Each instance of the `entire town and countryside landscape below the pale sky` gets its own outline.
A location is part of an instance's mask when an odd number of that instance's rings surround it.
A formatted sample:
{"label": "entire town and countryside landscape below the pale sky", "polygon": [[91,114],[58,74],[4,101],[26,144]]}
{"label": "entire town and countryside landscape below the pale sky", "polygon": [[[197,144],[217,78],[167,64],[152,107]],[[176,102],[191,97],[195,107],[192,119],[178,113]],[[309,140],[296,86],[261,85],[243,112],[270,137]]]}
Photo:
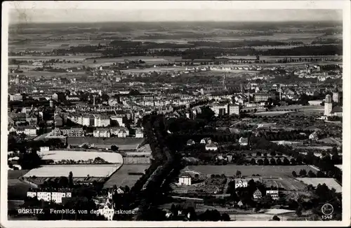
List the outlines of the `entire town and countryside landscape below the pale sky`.
{"label": "entire town and countryside landscape below the pale sky", "polygon": [[342,21],[8,32],[8,220],[342,220]]}

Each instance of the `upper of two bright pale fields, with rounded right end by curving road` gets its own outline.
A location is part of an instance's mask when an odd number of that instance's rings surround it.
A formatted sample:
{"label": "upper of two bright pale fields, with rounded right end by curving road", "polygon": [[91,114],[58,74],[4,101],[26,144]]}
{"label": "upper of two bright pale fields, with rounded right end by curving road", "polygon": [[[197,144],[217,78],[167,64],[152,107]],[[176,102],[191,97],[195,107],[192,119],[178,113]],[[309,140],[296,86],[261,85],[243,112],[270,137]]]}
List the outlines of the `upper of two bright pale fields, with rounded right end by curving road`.
{"label": "upper of two bright pale fields, with rounded right end by curving road", "polygon": [[74,161],[87,161],[88,159],[95,159],[100,157],[109,163],[123,163],[123,157],[118,153],[109,152],[81,152],[81,151],[69,151],[69,150],[51,150],[48,152],[38,152],[39,156],[43,159],[53,161],[74,160]]}

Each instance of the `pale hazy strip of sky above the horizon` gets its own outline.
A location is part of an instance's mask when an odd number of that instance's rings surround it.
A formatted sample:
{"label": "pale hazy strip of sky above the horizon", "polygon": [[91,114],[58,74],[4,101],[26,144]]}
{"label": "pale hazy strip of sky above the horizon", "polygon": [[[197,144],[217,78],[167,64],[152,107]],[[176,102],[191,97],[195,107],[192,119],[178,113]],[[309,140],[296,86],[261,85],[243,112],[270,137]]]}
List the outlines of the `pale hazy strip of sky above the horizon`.
{"label": "pale hazy strip of sky above the horizon", "polygon": [[20,9],[11,10],[10,22],[121,22],[121,21],[324,21],[342,20],[342,11],[324,9],[262,10],[92,10]]}

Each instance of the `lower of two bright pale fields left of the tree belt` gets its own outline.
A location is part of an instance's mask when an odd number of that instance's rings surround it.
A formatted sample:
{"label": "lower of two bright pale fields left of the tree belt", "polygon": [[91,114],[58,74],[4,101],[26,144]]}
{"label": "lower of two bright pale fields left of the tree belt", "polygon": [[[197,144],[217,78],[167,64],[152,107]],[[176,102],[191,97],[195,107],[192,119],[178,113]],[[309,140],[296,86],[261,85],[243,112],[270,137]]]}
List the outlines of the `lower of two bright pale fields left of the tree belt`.
{"label": "lower of two bright pale fields left of the tree belt", "polygon": [[71,171],[73,177],[110,177],[119,167],[121,164],[41,166],[30,170],[24,177],[68,177]]}

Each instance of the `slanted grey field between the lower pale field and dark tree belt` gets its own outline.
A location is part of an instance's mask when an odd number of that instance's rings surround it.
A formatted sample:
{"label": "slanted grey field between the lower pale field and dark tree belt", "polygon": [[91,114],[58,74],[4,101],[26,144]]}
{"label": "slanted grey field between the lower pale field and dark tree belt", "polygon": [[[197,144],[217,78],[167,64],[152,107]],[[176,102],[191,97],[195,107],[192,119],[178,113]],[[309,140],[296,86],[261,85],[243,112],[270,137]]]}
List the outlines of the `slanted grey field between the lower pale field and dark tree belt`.
{"label": "slanted grey field between the lower pale field and dark tree belt", "polygon": [[147,168],[149,168],[149,165],[147,164],[123,165],[109,178],[109,180],[107,180],[107,182],[105,182],[104,188],[113,187],[114,185],[128,185],[128,187],[133,187],[141,175],[129,175],[128,173],[145,173]]}

